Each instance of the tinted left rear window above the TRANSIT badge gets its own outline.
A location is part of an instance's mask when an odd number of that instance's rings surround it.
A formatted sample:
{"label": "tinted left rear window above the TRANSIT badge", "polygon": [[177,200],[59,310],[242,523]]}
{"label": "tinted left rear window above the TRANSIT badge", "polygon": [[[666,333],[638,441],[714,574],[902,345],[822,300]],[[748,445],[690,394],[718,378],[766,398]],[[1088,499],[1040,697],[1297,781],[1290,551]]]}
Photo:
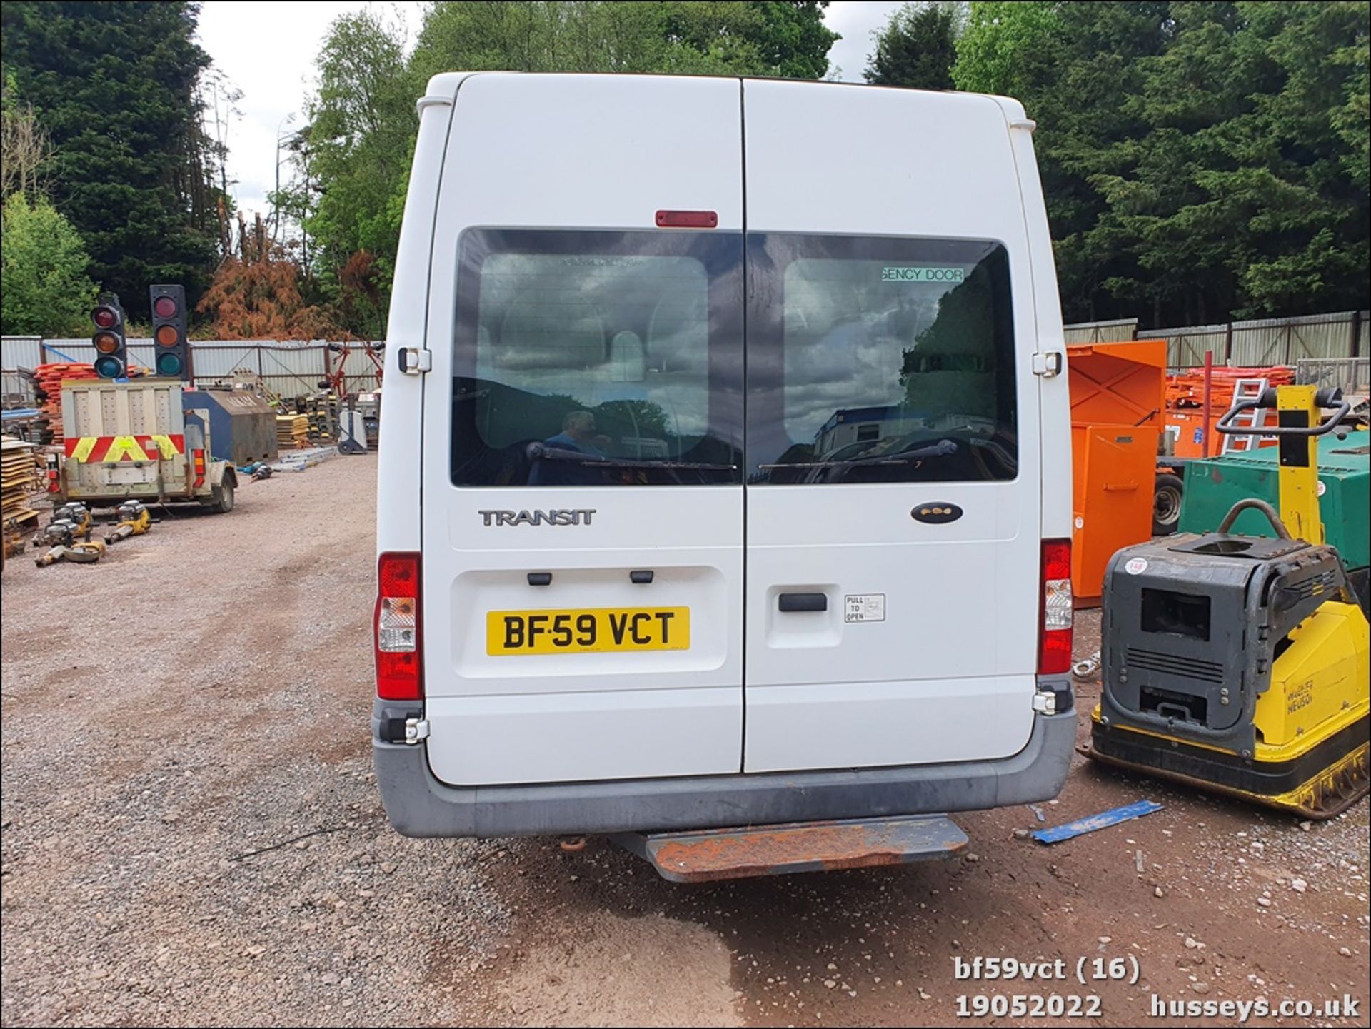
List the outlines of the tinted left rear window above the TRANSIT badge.
{"label": "tinted left rear window above the TRANSIT badge", "polygon": [[742,236],[469,230],[457,485],[742,481]]}

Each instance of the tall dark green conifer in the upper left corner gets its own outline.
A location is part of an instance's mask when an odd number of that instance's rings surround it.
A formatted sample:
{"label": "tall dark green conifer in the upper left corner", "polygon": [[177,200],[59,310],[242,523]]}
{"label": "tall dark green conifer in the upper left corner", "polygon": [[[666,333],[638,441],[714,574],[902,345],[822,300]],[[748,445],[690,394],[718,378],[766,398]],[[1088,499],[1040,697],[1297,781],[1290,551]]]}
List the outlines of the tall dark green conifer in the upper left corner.
{"label": "tall dark green conifer in the upper left corner", "polygon": [[130,314],[149,282],[192,292],[214,264],[222,193],[199,123],[210,59],[189,3],[5,3],[0,49],[53,147],[52,200]]}

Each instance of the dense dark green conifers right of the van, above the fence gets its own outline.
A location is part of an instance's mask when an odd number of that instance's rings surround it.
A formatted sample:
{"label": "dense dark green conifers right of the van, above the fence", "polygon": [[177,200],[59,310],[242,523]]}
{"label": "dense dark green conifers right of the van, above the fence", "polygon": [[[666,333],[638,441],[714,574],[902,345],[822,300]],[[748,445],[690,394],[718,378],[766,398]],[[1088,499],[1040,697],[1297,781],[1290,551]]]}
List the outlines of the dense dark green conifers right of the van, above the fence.
{"label": "dense dark green conifers right of the van, above the fence", "polygon": [[1016,96],[1068,318],[1367,303],[1367,3],[973,3],[962,89]]}

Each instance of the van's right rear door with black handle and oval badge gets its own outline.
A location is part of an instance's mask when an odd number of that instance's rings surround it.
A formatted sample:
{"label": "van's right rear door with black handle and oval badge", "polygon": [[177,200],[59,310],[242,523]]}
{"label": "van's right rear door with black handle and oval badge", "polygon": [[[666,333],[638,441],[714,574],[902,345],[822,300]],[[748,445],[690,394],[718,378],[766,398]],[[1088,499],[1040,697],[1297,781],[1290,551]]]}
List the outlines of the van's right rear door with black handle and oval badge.
{"label": "van's right rear door with black handle and oval badge", "polygon": [[747,81],[744,125],[744,769],[1015,754],[1041,486],[1005,116]]}

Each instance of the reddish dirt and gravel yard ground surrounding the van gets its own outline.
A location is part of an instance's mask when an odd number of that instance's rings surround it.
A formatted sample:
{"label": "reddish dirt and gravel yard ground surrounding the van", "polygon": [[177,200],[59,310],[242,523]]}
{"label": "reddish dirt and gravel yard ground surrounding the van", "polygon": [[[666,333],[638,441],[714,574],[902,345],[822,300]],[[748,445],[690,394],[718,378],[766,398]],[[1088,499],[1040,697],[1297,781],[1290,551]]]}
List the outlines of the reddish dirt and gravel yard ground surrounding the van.
{"label": "reddish dirt and gravel yard ground surrounding the van", "polygon": [[[960,815],[975,856],[705,887],[602,840],[400,839],[367,736],[374,469],[251,484],[97,566],[7,565],[4,1025],[945,1025],[958,995],[1091,992],[1101,1025],[1152,993],[1349,993],[1282,1024],[1367,1024],[1366,802],[1305,830],[1078,760],[1046,823],[1165,808],[1054,847],[1015,836],[1028,808]],[[957,982],[958,956],[1141,980]]]}

